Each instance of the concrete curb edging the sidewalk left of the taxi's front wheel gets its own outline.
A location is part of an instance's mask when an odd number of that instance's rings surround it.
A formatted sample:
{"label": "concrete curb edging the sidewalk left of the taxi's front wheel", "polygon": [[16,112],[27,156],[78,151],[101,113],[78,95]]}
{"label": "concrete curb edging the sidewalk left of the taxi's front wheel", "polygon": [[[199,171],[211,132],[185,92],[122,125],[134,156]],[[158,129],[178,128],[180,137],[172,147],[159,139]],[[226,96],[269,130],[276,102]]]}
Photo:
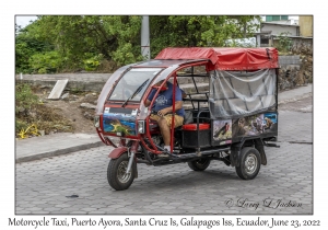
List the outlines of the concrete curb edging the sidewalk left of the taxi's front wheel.
{"label": "concrete curb edging the sidewalk left of the taxi's front wheel", "polygon": [[69,147],[69,148],[65,148],[65,149],[57,149],[54,151],[39,152],[37,154],[16,157],[15,162],[22,163],[22,162],[27,162],[27,161],[35,161],[35,160],[40,160],[43,158],[51,158],[55,156],[68,154],[68,153],[77,152],[80,150],[86,150],[86,149],[96,148],[96,147],[101,147],[101,146],[104,146],[103,141],[84,143],[84,145],[73,146],[73,147]]}

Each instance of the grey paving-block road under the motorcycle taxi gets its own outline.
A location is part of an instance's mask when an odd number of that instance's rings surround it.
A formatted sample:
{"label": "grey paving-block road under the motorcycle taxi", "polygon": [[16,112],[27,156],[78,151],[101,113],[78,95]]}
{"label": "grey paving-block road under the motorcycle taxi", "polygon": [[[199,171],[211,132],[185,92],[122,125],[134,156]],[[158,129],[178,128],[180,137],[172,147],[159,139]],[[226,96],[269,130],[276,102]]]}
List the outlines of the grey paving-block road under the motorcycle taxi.
{"label": "grey paving-block road under the motorcycle taxi", "polygon": [[266,149],[268,165],[253,181],[216,161],[204,172],[140,164],[131,187],[116,192],[108,147],[17,163],[15,214],[313,214],[312,117],[312,100],[281,105],[281,148]]}

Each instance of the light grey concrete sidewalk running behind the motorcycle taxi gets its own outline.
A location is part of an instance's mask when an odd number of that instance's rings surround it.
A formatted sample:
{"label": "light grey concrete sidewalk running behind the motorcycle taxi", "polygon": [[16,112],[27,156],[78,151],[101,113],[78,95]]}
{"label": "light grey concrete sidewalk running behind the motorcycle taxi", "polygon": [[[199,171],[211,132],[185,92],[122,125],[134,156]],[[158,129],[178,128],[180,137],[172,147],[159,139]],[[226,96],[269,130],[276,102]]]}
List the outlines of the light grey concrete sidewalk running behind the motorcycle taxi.
{"label": "light grey concrete sidewalk running behind the motorcycle taxi", "polygon": [[[293,102],[313,94],[313,84],[279,93],[278,104]],[[26,162],[105,146],[98,135],[60,133],[15,141],[15,160]]]}

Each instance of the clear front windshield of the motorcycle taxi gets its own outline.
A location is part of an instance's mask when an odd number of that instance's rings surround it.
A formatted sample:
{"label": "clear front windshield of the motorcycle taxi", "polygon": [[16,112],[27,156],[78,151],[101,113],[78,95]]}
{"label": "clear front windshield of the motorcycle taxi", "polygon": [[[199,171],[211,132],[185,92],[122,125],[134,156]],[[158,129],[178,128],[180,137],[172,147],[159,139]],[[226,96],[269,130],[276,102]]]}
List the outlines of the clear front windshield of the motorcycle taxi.
{"label": "clear front windshield of the motorcycle taxi", "polygon": [[[119,80],[108,100],[129,100],[139,102],[149,83],[161,70],[161,68],[131,69]],[[143,87],[138,90],[143,82],[145,82]],[[136,95],[132,96],[134,93]]]}

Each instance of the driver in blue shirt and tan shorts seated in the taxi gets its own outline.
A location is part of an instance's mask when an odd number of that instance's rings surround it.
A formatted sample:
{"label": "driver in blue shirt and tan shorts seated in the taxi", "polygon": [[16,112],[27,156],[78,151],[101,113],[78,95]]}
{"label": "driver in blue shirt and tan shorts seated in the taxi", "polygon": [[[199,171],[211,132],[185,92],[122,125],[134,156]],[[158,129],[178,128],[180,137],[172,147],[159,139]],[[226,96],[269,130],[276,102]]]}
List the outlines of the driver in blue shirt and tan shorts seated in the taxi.
{"label": "driver in blue shirt and tan shorts seated in the taxi", "polygon": [[[157,82],[155,87],[161,87],[163,80]],[[152,89],[144,105],[148,107],[151,104],[157,89]],[[171,82],[164,83],[152,107],[156,114],[151,114],[150,118],[159,123],[163,140],[164,149],[171,152],[171,126],[173,120],[173,84]],[[183,93],[178,85],[175,87],[175,115],[174,127],[179,127],[184,124],[185,111],[183,108]]]}

